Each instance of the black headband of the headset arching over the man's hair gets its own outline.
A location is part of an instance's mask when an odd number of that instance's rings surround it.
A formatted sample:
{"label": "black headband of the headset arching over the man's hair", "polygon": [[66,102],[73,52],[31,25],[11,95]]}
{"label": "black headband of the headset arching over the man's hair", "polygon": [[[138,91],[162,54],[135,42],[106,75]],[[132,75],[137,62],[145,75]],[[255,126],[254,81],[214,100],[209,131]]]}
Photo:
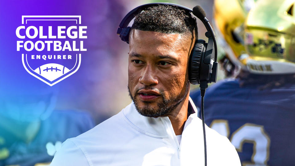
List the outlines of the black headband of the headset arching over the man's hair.
{"label": "black headband of the headset arching over the man's hair", "polygon": [[[122,21],[120,22],[119,28],[117,30],[117,34],[120,35],[121,37],[121,32],[124,30],[124,28],[127,28],[128,24],[130,23],[130,21],[136,16],[136,14],[139,14],[141,11],[143,11],[144,9],[150,7],[150,6],[155,6],[155,5],[170,5],[170,6],[177,6],[180,9],[184,9],[187,10],[189,13],[193,13],[196,17],[198,17],[204,24],[204,26],[206,27],[206,30],[208,32],[210,32],[211,36],[213,37],[213,41],[214,41],[214,51],[215,51],[215,58],[214,61],[217,61],[217,44],[216,44],[216,38],[215,38],[215,34],[213,32],[213,29],[211,27],[211,25],[209,24],[209,20],[206,18],[206,14],[204,12],[204,10],[198,6],[196,9],[194,8],[193,10],[182,6],[182,5],[178,5],[175,3],[166,3],[166,2],[157,2],[157,3],[148,3],[148,4],[144,4],[144,5],[140,5],[136,8],[134,8],[133,10],[131,10],[128,14],[126,14],[126,16],[122,19]],[[197,13],[197,14],[195,14]],[[127,30],[129,33],[129,30]],[[124,33],[124,32],[123,32]],[[126,32],[127,33],[127,32]],[[126,34],[127,35],[127,34]],[[207,35],[206,35],[207,36]],[[122,39],[123,40],[123,39]],[[124,40],[123,40],[124,41]],[[127,41],[128,43],[128,41]]]}

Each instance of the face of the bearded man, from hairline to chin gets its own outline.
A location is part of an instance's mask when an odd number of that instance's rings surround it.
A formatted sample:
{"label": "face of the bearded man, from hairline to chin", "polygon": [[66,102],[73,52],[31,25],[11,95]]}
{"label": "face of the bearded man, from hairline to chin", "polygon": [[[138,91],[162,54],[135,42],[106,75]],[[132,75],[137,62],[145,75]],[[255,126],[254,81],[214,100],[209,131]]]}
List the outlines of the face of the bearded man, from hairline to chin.
{"label": "face of the bearded man, from hairline to chin", "polygon": [[183,34],[132,30],[128,90],[137,111],[169,115],[188,95],[188,60],[194,40]]}

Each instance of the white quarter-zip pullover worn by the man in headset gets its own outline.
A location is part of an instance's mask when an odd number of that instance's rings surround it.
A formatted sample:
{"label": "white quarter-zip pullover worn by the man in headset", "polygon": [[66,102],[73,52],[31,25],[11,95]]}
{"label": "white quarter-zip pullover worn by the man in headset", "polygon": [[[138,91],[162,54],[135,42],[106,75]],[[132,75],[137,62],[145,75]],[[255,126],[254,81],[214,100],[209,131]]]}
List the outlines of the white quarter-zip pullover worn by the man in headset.
{"label": "white quarter-zip pullover worn by the man in headset", "polygon": [[[190,112],[196,112],[189,101]],[[240,166],[230,141],[206,126],[207,165]],[[51,166],[204,165],[202,121],[192,113],[177,140],[168,117],[140,115],[133,102],[88,132],[66,140]]]}

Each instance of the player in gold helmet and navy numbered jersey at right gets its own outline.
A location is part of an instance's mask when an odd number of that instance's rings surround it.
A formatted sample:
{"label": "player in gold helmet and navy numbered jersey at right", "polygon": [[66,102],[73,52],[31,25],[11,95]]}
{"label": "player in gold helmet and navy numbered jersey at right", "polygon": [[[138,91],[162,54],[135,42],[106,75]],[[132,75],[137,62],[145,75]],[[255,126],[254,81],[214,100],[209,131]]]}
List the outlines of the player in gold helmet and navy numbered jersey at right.
{"label": "player in gold helmet and navy numbered jersey at right", "polygon": [[[206,92],[205,122],[230,138],[242,165],[294,165],[294,2],[255,3],[245,22],[244,67]],[[191,94],[196,105],[199,95]]]}

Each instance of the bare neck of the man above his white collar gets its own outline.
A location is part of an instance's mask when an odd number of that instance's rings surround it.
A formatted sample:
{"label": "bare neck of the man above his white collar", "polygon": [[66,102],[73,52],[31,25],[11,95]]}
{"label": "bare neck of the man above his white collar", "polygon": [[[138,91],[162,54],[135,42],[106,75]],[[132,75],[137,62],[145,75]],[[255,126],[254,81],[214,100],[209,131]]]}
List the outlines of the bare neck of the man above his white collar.
{"label": "bare neck of the man above his white collar", "polygon": [[189,95],[181,102],[170,115],[167,115],[171,121],[175,135],[181,135],[184,124],[187,121],[187,108]]}

